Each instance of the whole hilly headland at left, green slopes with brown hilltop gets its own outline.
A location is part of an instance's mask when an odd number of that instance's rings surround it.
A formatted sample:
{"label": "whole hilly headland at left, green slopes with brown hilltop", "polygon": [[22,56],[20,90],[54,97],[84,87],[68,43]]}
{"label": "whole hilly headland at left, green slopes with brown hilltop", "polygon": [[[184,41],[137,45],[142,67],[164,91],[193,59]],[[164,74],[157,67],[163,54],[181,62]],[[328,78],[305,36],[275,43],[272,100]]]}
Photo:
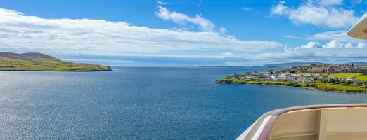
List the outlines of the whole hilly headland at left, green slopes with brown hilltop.
{"label": "whole hilly headland at left, green slopes with brown hilltop", "polygon": [[65,62],[41,53],[0,52],[0,71],[112,71],[110,66]]}

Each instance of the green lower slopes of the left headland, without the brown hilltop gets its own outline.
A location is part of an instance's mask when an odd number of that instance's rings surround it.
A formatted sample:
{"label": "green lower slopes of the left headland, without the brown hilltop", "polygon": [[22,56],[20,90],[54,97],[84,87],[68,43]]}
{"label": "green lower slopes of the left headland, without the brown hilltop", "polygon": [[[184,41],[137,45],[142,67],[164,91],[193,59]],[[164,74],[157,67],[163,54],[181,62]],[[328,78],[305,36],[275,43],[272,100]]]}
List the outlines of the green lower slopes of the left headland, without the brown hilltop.
{"label": "green lower slopes of the left headland, without the brown hilltop", "polygon": [[0,57],[0,71],[110,71],[109,66],[79,64],[53,58],[13,59]]}

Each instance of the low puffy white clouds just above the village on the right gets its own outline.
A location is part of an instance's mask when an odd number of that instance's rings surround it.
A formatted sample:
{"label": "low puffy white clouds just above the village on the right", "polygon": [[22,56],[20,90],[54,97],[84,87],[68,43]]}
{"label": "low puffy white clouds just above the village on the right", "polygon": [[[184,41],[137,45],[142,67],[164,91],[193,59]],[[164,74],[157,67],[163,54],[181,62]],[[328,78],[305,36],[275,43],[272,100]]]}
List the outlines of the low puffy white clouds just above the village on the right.
{"label": "low puffy white clouds just above the village on the right", "polygon": [[367,43],[340,43],[330,41],[324,45],[310,41],[307,45],[302,45],[283,52],[265,52],[259,55],[247,56],[254,60],[275,60],[290,62],[313,62],[321,60],[323,62],[366,62]]}

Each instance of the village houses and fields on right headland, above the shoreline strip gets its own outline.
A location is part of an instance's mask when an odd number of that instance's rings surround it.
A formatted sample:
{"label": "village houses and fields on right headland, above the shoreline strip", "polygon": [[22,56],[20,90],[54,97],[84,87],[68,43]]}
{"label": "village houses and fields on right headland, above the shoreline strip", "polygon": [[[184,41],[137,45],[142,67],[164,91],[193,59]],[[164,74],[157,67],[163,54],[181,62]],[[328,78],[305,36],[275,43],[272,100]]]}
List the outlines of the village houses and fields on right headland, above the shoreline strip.
{"label": "village houses and fields on right headland, above the shoreline strip", "polygon": [[[233,73],[226,78],[247,81],[281,81],[290,83],[337,83],[355,86],[367,86],[367,66],[356,64],[311,64],[293,66],[290,69],[269,70],[264,72]],[[356,78],[363,76],[362,79]]]}

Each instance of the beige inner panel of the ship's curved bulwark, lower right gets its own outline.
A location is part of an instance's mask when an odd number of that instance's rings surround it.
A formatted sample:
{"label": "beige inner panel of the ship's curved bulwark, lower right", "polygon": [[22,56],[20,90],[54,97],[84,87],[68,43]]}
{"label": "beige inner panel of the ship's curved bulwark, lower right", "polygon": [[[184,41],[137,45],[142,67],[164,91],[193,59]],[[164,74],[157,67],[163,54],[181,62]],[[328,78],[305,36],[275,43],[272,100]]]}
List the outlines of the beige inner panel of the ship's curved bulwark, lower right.
{"label": "beige inner panel of the ship's curved bulwark, lower right", "polygon": [[268,139],[366,140],[367,109],[329,108],[283,113]]}

